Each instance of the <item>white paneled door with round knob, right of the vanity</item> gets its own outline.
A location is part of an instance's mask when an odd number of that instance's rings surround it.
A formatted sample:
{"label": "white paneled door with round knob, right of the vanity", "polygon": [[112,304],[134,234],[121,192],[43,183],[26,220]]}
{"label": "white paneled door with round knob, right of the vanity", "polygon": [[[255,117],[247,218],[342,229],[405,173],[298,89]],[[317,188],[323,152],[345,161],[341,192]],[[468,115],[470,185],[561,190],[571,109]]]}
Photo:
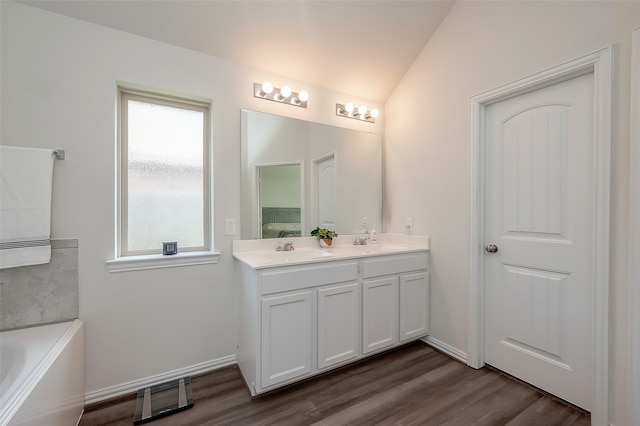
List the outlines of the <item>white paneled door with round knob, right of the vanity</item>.
{"label": "white paneled door with round knob, right of the vanity", "polygon": [[485,115],[485,361],[586,410],[593,392],[593,73]]}

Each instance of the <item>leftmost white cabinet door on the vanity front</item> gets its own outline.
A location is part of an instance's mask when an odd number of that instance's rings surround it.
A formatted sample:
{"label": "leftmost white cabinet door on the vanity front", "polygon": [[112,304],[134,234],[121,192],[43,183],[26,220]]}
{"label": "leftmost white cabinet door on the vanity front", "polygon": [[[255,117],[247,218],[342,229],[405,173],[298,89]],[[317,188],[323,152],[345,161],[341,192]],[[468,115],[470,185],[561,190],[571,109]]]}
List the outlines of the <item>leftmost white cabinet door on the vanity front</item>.
{"label": "leftmost white cabinet door on the vanity front", "polygon": [[311,373],[311,291],[262,299],[262,387]]}

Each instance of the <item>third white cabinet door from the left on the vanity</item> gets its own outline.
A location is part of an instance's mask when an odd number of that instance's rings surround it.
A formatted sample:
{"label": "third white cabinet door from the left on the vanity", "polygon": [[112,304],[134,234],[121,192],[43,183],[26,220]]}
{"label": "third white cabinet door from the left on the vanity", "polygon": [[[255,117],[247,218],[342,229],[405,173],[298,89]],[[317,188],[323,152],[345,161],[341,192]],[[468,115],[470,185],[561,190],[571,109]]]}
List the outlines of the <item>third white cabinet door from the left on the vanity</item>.
{"label": "third white cabinet door from the left on the vanity", "polygon": [[362,353],[398,342],[398,278],[367,280],[362,286]]}

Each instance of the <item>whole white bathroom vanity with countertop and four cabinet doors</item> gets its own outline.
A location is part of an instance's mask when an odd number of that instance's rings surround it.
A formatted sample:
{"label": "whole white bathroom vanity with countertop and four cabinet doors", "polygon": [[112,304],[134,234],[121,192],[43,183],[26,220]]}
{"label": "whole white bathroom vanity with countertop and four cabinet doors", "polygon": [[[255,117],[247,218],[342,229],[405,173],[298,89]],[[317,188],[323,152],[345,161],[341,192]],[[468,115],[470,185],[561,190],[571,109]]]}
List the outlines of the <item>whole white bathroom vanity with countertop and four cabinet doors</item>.
{"label": "whole white bathroom vanity with countertop and four cabinet doors", "polygon": [[427,335],[429,239],[335,241],[295,238],[296,250],[281,252],[273,240],[234,241],[237,361],[252,396]]}

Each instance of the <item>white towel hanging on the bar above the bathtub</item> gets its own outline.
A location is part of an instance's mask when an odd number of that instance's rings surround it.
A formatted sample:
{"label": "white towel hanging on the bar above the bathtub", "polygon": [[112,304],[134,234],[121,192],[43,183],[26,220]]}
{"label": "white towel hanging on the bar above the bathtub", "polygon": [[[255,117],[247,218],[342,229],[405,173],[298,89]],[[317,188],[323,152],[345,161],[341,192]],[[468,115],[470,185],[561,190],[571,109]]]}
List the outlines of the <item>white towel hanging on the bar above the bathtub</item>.
{"label": "white towel hanging on the bar above the bathtub", "polygon": [[0,146],[0,269],[51,260],[53,150]]}

